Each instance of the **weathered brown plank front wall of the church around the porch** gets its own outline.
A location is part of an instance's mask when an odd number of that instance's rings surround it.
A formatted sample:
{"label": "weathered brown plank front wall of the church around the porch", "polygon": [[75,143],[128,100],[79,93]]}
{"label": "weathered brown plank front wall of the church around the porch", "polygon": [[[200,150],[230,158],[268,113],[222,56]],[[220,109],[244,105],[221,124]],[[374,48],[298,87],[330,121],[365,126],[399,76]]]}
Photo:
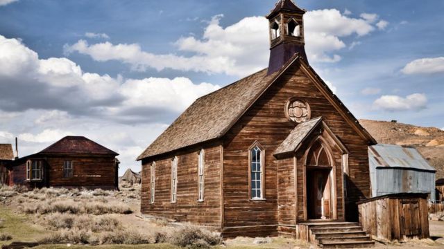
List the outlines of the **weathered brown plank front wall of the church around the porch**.
{"label": "weathered brown plank front wall of the church around the porch", "polygon": [[[328,127],[350,150],[347,202],[350,219],[357,220],[355,201],[370,196],[368,142],[357,134],[307,74],[299,66],[295,66],[289,68],[280,80],[257,100],[224,138],[223,187],[227,233],[230,227],[239,226],[252,227],[253,232],[259,227],[267,227],[267,232],[270,233],[275,232],[273,225],[278,225],[278,165],[273,151],[295,127],[284,113],[284,105],[292,97],[307,101],[311,107],[311,118],[322,116]],[[256,140],[266,150],[266,201],[248,199],[248,147]],[[298,170],[298,185],[300,174],[302,172]],[[341,174],[341,170],[337,170],[336,174]],[[339,176],[336,178],[341,179]],[[338,184],[338,187],[341,184]],[[338,188],[337,191],[341,189]],[[299,203],[298,193],[298,205]]]}

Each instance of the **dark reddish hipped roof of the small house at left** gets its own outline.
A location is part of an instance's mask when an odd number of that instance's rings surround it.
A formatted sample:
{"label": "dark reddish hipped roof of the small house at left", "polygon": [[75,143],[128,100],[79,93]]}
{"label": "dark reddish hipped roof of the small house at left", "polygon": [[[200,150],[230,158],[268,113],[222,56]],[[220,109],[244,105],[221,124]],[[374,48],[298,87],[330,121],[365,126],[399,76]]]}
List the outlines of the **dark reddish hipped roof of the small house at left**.
{"label": "dark reddish hipped roof of the small house at left", "polygon": [[66,136],[53,143],[46,149],[40,151],[41,154],[101,154],[117,156],[116,152],[99,145],[83,136]]}

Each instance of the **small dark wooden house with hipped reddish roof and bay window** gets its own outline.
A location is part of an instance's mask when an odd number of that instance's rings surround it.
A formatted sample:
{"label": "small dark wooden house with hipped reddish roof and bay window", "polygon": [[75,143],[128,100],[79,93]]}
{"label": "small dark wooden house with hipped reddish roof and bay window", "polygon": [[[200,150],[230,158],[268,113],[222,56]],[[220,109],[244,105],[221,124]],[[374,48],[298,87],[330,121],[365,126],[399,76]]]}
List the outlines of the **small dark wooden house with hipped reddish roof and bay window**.
{"label": "small dark wooden house with hipped reddish roof and bay window", "polygon": [[117,190],[118,154],[83,136],[67,136],[10,166],[10,185]]}

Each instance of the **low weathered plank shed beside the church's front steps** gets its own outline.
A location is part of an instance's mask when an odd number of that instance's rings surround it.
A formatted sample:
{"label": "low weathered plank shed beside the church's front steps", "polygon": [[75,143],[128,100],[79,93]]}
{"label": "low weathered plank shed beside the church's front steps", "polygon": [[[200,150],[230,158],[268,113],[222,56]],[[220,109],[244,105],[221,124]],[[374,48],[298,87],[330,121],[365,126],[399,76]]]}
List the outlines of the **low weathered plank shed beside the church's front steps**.
{"label": "low weathered plank shed beside the church's front steps", "polygon": [[359,223],[382,241],[429,237],[427,194],[391,194],[359,204]]}

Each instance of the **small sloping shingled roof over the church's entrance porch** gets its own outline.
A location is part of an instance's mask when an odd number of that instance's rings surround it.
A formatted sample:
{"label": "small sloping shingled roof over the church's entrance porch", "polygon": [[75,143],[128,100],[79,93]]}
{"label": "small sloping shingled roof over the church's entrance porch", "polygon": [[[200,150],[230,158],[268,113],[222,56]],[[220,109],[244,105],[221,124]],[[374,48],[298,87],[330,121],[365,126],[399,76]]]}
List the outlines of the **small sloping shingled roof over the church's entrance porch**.
{"label": "small sloping shingled roof over the church's entrance porch", "polygon": [[307,120],[305,122],[301,122],[296,126],[293,131],[291,131],[290,135],[282,142],[278,149],[275,150],[274,155],[286,154],[289,152],[296,151],[302,142],[311,134],[319,124],[322,123],[322,118],[313,118],[311,120]]}

